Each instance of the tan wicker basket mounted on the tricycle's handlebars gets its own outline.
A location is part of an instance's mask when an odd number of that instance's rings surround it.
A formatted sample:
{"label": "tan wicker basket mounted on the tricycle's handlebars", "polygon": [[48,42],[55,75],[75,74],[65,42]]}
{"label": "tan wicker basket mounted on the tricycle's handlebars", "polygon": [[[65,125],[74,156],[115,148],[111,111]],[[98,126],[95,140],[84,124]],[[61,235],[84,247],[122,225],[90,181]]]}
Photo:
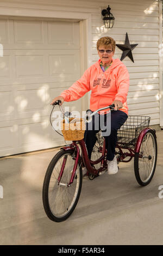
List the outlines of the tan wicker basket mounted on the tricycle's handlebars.
{"label": "tan wicker basket mounted on the tricycle's handlebars", "polygon": [[61,131],[65,141],[80,141],[84,138],[85,121],[83,118],[63,119],[61,121]]}

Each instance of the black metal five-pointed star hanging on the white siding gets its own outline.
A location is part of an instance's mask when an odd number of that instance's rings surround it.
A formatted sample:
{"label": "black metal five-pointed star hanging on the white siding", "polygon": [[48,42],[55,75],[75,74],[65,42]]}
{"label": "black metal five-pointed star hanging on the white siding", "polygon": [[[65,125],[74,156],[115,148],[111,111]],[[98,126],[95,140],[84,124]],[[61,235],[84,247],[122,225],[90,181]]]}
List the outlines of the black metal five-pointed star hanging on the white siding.
{"label": "black metal five-pointed star hanging on the white siding", "polygon": [[126,39],[125,39],[125,44],[124,45],[118,45],[116,44],[116,46],[118,48],[120,48],[123,53],[122,53],[122,56],[121,56],[121,60],[123,60],[124,58],[126,58],[126,56],[128,56],[132,62],[134,62],[134,59],[133,59],[133,54],[131,51],[134,50],[134,48],[137,46],[138,44],[134,44],[134,45],[130,45],[129,43],[129,39],[128,39],[128,34],[126,33]]}

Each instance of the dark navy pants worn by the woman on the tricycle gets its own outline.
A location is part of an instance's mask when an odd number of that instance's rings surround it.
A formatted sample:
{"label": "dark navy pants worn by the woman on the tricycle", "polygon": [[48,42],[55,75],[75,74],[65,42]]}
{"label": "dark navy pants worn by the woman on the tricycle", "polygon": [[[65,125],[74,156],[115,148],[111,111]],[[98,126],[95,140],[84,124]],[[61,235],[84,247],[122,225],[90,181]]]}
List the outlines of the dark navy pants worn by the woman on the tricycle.
{"label": "dark navy pants worn by the woman on the tricycle", "polygon": [[[99,120],[99,114],[98,119]],[[89,125],[86,124],[86,131],[84,134],[84,140],[85,144],[87,147],[87,153],[89,155],[89,159],[91,159],[91,154],[93,147],[97,141],[96,133],[100,129],[100,127],[96,127],[96,117],[92,117],[92,130],[89,130]],[[106,141],[106,150],[107,150],[107,155],[106,159],[107,160],[113,160],[115,156],[115,147],[117,143],[117,130],[120,129],[120,127],[124,124],[124,122],[127,120],[128,115],[124,113],[123,111],[117,110],[117,111],[111,111],[111,122],[110,122],[110,135],[109,136],[104,136],[105,141]],[[106,114],[104,117],[104,125],[106,126]],[[102,128],[102,127],[101,127]]]}

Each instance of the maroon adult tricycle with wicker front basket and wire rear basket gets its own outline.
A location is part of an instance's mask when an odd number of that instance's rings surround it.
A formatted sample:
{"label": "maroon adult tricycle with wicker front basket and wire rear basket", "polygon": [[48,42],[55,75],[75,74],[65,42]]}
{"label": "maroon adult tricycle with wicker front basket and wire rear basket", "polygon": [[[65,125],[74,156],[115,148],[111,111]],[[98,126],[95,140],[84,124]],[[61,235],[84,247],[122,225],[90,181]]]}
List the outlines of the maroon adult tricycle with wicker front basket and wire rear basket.
{"label": "maroon adult tricycle with wicker front basket and wire rear basket", "polygon": [[[53,109],[55,105],[60,106],[64,115],[62,133],[65,140],[72,143],[62,147],[49,163],[42,189],[45,212],[48,218],[55,222],[65,221],[76,208],[82,190],[82,167],[87,168],[90,180],[104,174],[107,170],[105,139],[101,131],[97,133],[97,142],[90,160],[84,141],[85,120],[80,118],[76,121],[70,117],[70,112],[64,113],[60,103],[60,101],[55,102]],[[90,120],[97,112],[108,108],[114,111],[114,105],[97,109],[95,112],[89,112],[86,120]],[[66,120],[68,118],[68,123],[65,122],[65,118]],[[135,177],[141,186],[151,182],[157,160],[155,130],[149,127],[149,121],[150,117],[147,116],[129,115],[118,130],[115,153],[117,163],[129,162],[134,157]],[[71,123],[73,127],[76,126],[75,129],[71,130]]]}

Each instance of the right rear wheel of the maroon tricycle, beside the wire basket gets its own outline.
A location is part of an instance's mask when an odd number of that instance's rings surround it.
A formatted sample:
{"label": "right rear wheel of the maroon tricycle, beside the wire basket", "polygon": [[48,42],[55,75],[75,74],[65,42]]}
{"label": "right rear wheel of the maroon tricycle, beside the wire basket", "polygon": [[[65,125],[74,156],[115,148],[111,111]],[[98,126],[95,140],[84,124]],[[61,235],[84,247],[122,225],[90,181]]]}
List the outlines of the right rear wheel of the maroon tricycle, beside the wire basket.
{"label": "right rear wheel of the maroon tricycle, beside the wire basket", "polygon": [[[145,151],[143,150],[143,143],[148,143],[147,141],[147,136],[148,138],[151,137],[152,140],[150,140],[153,144],[153,152],[151,151],[149,153],[149,150],[148,152],[146,151],[145,153],[143,153],[143,157],[145,158],[140,158],[140,154],[142,154],[142,151]],[[149,155],[150,154],[150,155]],[[151,154],[153,156],[151,156]],[[143,137],[142,139],[142,143],[141,143],[141,147],[140,147],[140,151],[139,153],[135,153],[135,157],[134,157],[134,172],[135,172],[135,178],[137,180],[137,182],[141,185],[141,186],[146,186],[148,185],[152,178],[153,178],[153,175],[154,175],[154,172],[155,172],[155,167],[156,167],[156,161],[157,161],[157,154],[158,154],[158,149],[157,149],[157,142],[156,142],[156,135],[155,135],[155,132],[153,130],[148,130],[146,133],[145,133],[145,136]],[[152,158],[151,158],[152,157]],[[152,162],[152,161],[153,162]],[[143,165],[143,167],[142,167]],[[145,167],[148,166],[148,169],[145,170]],[[151,167],[152,166],[152,167]],[[151,168],[151,170],[150,170]],[[146,177],[143,178],[143,170],[144,170],[144,173],[146,172],[149,173],[148,175],[146,175]],[[145,176],[145,175],[144,175]]]}

